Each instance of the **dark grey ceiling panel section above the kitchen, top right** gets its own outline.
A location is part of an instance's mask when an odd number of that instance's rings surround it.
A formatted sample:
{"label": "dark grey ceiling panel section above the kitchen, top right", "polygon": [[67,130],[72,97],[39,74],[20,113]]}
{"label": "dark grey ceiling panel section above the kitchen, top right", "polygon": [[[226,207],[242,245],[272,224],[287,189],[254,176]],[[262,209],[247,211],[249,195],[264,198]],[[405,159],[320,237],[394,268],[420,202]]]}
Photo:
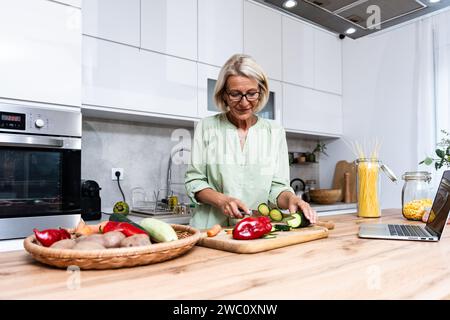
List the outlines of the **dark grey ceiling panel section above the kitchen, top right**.
{"label": "dark grey ceiling panel section above the kitchen, top right", "polygon": [[[286,0],[255,1],[352,39],[450,7],[450,0],[296,0],[290,9]],[[355,32],[347,34],[349,28]]]}

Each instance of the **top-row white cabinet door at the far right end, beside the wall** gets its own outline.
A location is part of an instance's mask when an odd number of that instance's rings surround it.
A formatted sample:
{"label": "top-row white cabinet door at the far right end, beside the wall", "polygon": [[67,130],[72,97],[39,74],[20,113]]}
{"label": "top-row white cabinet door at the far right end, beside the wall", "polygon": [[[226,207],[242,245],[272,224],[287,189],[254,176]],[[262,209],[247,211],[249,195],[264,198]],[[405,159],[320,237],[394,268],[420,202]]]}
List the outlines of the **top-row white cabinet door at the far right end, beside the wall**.
{"label": "top-row white cabinet door at the far right end, beside the wall", "polygon": [[336,35],[315,29],[314,47],[314,87],[342,94],[342,40]]}

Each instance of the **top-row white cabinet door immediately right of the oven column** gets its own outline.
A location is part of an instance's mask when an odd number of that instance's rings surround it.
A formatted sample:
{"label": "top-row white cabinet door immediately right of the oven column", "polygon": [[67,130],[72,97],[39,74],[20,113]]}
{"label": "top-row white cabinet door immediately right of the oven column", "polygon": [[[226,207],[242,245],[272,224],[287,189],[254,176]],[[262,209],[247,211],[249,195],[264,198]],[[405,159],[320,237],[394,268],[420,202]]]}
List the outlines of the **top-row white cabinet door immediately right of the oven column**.
{"label": "top-row white cabinet door immediately right of the oven column", "polygon": [[83,34],[138,47],[140,0],[83,2]]}

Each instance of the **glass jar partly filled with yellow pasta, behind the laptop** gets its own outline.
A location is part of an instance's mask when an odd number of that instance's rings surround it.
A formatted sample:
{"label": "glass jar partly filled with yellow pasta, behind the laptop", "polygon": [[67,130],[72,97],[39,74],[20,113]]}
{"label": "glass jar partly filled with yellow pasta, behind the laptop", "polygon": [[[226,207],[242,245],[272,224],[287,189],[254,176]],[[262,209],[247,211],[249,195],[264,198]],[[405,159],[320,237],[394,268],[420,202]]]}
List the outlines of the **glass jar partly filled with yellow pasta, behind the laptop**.
{"label": "glass jar partly filled with yellow pasta, behind the laptop", "polygon": [[408,220],[422,220],[433,200],[431,199],[431,173],[426,171],[405,172],[402,189],[402,214]]}

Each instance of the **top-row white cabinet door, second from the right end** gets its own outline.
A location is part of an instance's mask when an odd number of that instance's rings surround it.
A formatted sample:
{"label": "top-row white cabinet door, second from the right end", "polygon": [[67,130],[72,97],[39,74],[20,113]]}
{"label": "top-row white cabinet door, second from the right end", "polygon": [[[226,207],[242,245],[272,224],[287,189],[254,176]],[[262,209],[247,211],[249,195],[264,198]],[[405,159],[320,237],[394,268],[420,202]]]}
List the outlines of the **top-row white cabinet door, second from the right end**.
{"label": "top-row white cabinet door, second from the right end", "polygon": [[283,81],[314,87],[314,28],[283,17]]}

